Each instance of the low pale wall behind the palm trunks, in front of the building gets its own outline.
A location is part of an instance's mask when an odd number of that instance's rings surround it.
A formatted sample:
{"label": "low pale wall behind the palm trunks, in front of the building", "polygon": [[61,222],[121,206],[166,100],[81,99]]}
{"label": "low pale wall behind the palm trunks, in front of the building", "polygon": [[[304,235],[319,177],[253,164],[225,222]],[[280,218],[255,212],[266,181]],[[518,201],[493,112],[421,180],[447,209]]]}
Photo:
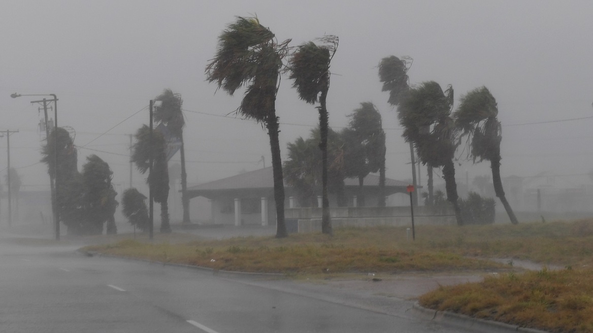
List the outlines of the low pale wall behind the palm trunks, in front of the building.
{"label": "low pale wall behind the palm trunks, in front of the building", "polygon": [[[321,230],[321,212],[321,208],[287,208],[285,217],[296,222],[297,232],[314,232]],[[332,207],[330,216],[334,229],[347,226],[412,226],[410,207]],[[457,221],[452,210],[435,214],[426,207],[415,207],[414,223],[455,225]]]}

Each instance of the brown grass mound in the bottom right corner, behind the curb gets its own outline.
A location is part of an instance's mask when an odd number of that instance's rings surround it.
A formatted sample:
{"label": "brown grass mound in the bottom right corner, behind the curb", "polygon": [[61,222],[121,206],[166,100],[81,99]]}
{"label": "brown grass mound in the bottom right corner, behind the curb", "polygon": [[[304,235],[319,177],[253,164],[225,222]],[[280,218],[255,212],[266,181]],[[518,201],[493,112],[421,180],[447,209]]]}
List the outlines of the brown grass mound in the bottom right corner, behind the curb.
{"label": "brown grass mound in the bottom right corner, behind the curb", "polygon": [[439,287],[422,306],[544,329],[593,332],[593,270],[530,271],[487,277],[482,283]]}

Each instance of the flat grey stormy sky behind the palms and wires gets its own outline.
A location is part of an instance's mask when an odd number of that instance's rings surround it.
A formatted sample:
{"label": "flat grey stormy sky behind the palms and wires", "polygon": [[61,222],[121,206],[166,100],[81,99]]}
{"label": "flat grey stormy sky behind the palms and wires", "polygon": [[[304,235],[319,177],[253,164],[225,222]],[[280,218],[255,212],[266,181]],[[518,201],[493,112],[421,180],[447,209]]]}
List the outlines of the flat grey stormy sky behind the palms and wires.
{"label": "flat grey stormy sky behind the palms and wires", "polygon": [[[409,151],[377,76],[378,62],[390,55],[413,57],[412,84],[452,84],[457,100],[470,89],[490,89],[503,124],[503,177],[543,171],[584,175],[593,167],[593,119],[521,125],[593,117],[591,1],[0,3],[0,130],[20,130],[11,136],[11,164],[23,175],[25,190],[44,189],[49,182],[46,167],[36,164],[36,124],[43,113],[30,104],[36,97],[12,99],[12,92],[58,95],[59,126],[75,129],[76,145],[101,151],[79,149],[79,168],[96,153],[109,162],[119,190],[128,186],[127,135],[148,123],[147,110],[132,115],[164,88],[180,93],[189,110],[184,136],[190,182],[260,168],[261,156],[269,166],[262,127],[220,117],[237,108],[242,92],[215,94],[216,86],[205,82],[217,37],[235,15],[257,15],[293,46],[324,34],[340,37],[331,64],[336,75],[328,97],[330,125],[345,126],[359,103],[375,103],[387,133],[387,177],[410,178]],[[283,77],[276,104],[283,156],[287,142],[308,136],[317,124],[317,111],[298,100],[291,83]],[[4,169],[5,138],[0,154]],[[466,172],[470,178],[490,173],[485,163],[460,162],[461,179]],[[144,179],[136,172],[134,178]],[[581,178],[565,179],[579,185]]]}

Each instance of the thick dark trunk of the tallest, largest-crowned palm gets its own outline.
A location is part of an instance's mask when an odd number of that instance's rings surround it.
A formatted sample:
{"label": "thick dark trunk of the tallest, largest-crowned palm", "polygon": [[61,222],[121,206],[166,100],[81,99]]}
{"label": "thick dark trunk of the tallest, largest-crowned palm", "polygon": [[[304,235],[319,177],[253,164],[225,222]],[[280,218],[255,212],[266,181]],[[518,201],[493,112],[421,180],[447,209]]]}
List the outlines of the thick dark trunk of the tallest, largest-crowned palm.
{"label": "thick dark trunk of the tallest, largest-crowned palm", "polygon": [[276,238],[288,236],[284,221],[284,177],[282,177],[282,159],[280,159],[279,125],[276,110],[270,111],[266,119],[267,135],[270,137],[272,151],[272,169],[274,172],[274,200],[276,201]]}

